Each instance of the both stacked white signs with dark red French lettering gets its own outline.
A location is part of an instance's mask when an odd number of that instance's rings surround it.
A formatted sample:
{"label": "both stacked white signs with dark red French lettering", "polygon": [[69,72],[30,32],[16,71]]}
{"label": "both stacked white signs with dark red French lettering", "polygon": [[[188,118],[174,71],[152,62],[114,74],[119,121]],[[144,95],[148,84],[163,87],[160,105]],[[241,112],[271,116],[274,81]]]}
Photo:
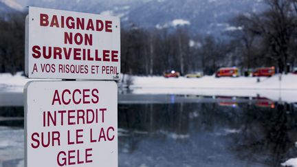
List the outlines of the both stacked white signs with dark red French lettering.
{"label": "both stacked white signs with dark red French lettering", "polygon": [[25,86],[25,167],[118,166],[120,19],[29,7],[25,23],[28,78],[85,80]]}

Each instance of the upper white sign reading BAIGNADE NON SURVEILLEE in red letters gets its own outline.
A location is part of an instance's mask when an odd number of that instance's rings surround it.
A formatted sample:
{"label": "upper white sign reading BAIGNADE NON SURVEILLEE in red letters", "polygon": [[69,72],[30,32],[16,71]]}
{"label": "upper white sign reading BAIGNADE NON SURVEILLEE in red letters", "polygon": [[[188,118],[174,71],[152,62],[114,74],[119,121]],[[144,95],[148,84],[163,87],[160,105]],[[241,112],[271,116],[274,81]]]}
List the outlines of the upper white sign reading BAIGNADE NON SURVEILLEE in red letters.
{"label": "upper white sign reading BAIGNADE NON SURVEILLEE in red letters", "polygon": [[29,78],[119,80],[118,17],[29,7],[25,46]]}

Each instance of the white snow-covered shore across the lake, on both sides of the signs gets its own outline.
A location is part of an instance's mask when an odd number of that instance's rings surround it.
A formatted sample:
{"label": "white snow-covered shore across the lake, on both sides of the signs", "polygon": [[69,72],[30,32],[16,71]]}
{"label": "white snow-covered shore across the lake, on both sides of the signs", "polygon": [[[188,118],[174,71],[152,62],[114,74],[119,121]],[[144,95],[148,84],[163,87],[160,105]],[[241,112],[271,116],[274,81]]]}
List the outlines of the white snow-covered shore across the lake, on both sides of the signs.
{"label": "white snow-covered shore across the lake, on both sides of the signs", "polygon": [[[281,77],[281,81],[280,81]],[[125,77],[127,78],[127,77]],[[263,96],[275,101],[297,102],[297,75],[257,78],[164,78],[162,76],[133,76],[130,88],[135,94],[194,94],[200,96]],[[24,85],[32,79],[18,73],[0,74],[0,93],[23,92]]]}

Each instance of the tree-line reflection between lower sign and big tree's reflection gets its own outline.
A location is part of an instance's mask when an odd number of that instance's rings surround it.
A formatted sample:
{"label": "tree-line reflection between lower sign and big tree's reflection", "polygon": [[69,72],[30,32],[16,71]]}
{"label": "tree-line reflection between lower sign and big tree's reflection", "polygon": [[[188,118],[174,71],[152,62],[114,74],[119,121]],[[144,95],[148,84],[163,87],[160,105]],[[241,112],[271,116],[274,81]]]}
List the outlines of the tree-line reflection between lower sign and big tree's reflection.
{"label": "tree-line reflection between lower sign and big tree's reflection", "polygon": [[[236,128],[236,109],[218,107],[217,104],[126,104],[119,105],[118,126],[128,132],[120,142],[133,151],[147,136],[165,139],[174,135],[177,141],[199,131],[214,132],[225,126]],[[191,115],[197,115],[193,117]],[[145,135],[144,135],[145,134]],[[121,143],[120,143],[121,144]],[[126,145],[120,146],[126,149]]]}

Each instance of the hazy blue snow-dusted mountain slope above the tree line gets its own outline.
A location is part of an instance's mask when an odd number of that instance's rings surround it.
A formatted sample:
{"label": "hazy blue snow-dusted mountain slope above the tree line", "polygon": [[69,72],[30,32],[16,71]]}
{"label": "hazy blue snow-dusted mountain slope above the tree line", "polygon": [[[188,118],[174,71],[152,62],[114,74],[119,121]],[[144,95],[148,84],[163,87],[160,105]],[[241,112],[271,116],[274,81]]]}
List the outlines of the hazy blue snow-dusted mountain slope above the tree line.
{"label": "hazy blue snow-dusted mountain slope above the tree line", "polygon": [[[0,0],[12,1],[12,0]],[[15,0],[21,4],[120,16],[122,27],[186,26],[191,32],[219,35],[234,30],[232,17],[263,8],[262,0]],[[1,8],[1,6],[0,6]]]}

